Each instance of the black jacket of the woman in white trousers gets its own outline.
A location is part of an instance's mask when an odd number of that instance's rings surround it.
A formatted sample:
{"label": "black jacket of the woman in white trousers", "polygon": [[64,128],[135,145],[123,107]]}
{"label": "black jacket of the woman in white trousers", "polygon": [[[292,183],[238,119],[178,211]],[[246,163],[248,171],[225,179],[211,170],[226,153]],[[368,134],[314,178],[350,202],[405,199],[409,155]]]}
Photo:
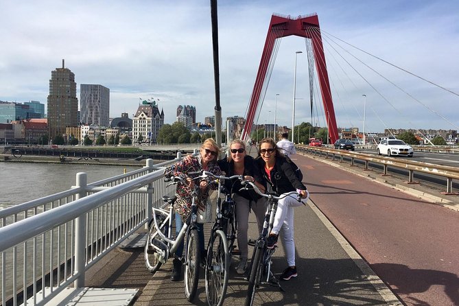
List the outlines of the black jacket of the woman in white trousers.
{"label": "black jacket of the woman in white trousers", "polygon": [[287,162],[283,156],[276,156],[276,163],[270,172],[271,180],[265,172],[265,161],[263,158],[257,158],[258,167],[266,182],[272,186],[272,190],[277,194],[296,191],[296,189],[306,190],[306,186],[301,183],[296,175],[292,165]]}

